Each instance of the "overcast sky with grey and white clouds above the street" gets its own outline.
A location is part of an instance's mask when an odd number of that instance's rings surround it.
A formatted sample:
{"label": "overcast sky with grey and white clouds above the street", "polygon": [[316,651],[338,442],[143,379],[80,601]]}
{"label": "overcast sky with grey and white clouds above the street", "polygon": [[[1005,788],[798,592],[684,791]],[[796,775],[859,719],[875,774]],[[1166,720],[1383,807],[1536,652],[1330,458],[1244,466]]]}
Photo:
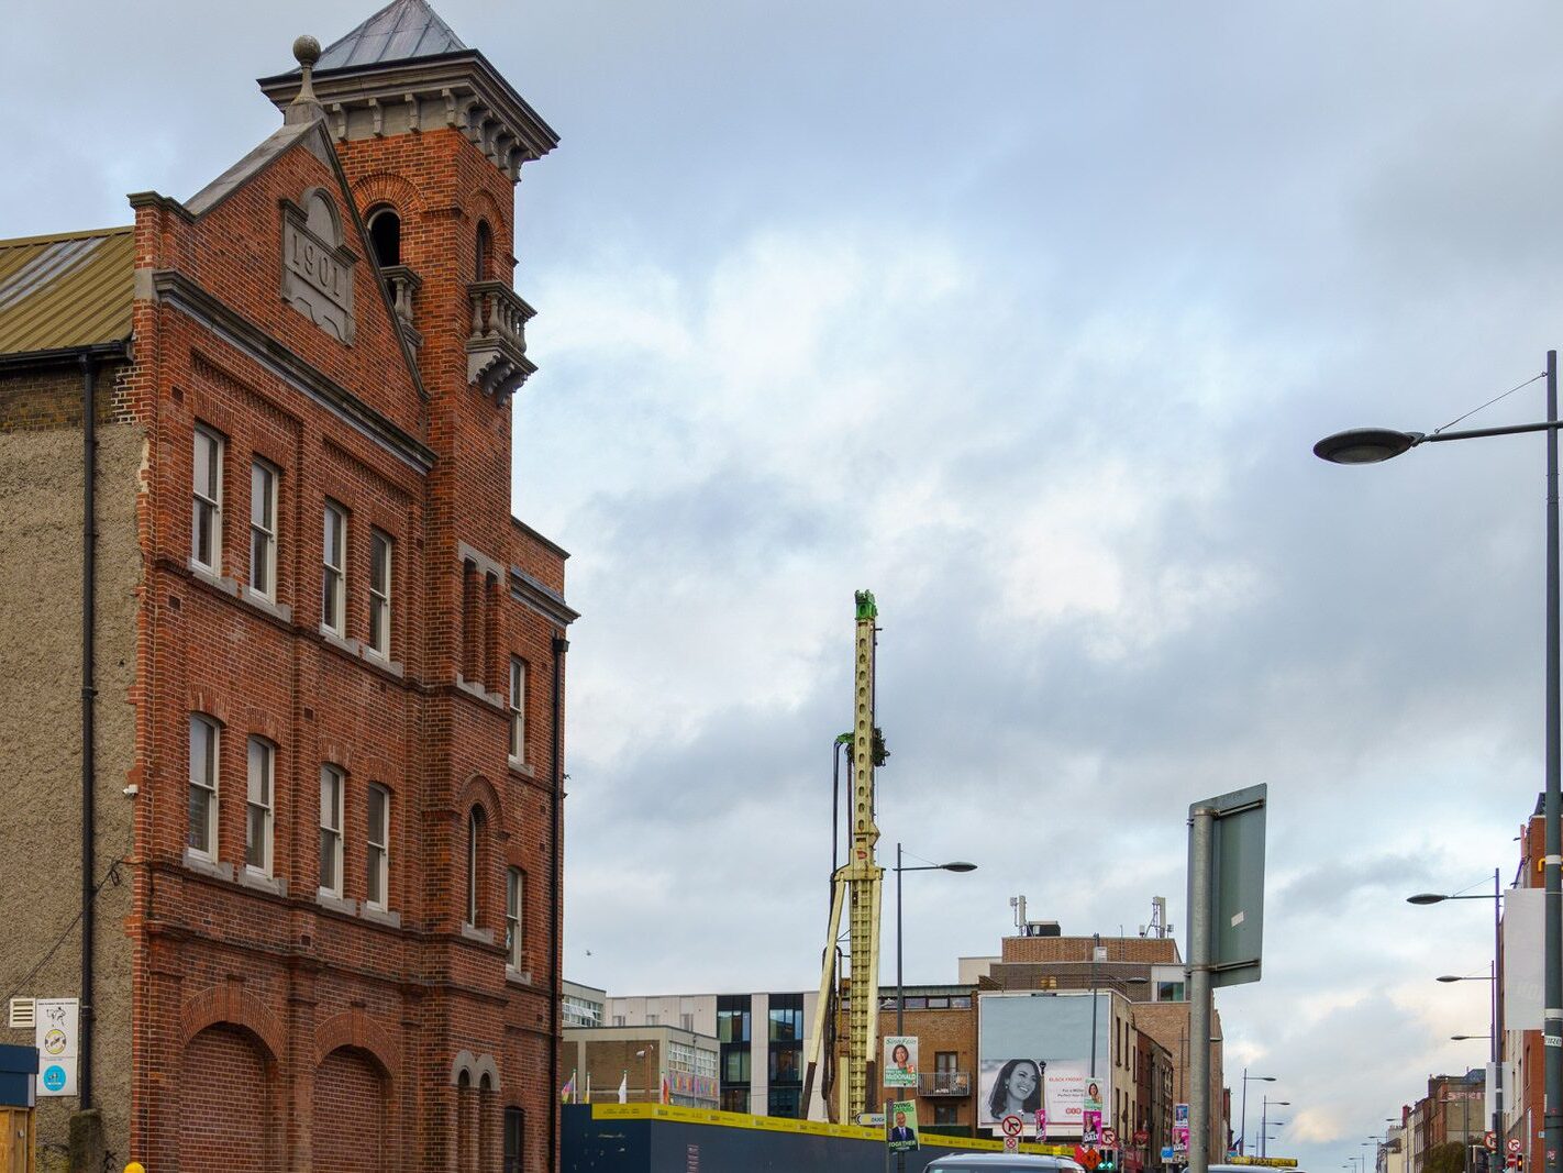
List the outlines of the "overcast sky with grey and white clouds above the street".
{"label": "overcast sky with grey and white clouds above the street", "polygon": [[[372,8],[8,5],[0,233],[194,194]],[[1068,934],[1164,895],[1182,940],[1188,804],[1268,782],[1264,981],[1218,1006],[1272,1151],[1333,1173],[1480,1064],[1486,985],[1433,978],[1486,906],[1404,898],[1511,876],[1543,785],[1543,444],[1310,447],[1563,343],[1563,9],[436,8],[563,138],[517,189],[514,496],[583,612],[566,976],[817,982],[871,588],[880,859],[978,863],[907,881],[908,979],[1019,893]]]}

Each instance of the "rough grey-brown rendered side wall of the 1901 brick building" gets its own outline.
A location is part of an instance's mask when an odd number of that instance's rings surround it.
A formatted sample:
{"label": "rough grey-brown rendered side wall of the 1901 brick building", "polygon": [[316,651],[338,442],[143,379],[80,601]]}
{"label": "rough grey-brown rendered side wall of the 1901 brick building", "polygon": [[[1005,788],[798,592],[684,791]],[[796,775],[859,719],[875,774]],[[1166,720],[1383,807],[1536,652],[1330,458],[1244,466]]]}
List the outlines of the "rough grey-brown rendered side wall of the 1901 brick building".
{"label": "rough grey-brown rendered side wall of the 1901 brick building", "polygon": [[[38,380],[34,380],[36,383]],[[80,396],[80,374],[56,388]],[[108,378],[100,394],[109,397]],[[31,388],[34,394],[39,388]],[[0,378],[0,399],[8,383]],[[77,411],[80,419],[80,411]],[[77,421],[72,421],[75,424]],[[0,999],[80,996],[81,432],[0,419]],[[136,666],[136,485],[142,432],[98,425],[97,874],[131,852]],[[130,871],[97,901],[94,1099],[122,1168],[130,1137]],[[53,956],[50,948],[56,946]],[[41,968],[38,968],[41,967]],[[38,968],[36,974],[28,976]],[[0,1006],[0,1013],[5,1007]],[[31,1045],[31,1032],[0,1040]],[[63,1168],[75,1098],[39,1101],[39,1168]]]}

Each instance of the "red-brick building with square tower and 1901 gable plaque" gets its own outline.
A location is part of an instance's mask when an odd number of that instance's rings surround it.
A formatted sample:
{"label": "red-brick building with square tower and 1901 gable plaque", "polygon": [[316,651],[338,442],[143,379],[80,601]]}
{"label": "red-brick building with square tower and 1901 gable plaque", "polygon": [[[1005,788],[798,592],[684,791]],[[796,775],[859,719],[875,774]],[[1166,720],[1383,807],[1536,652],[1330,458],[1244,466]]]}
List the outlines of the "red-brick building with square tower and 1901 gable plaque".
{"label": "red-brick building with square tower and 1901 gable plaque", "polygon": [[83,1004],[48,1157],[541,1173],[575,615],[511,516],[511,275],[556,136],[422,0],[295,52],[197,196],[0,241],[0,982]]}

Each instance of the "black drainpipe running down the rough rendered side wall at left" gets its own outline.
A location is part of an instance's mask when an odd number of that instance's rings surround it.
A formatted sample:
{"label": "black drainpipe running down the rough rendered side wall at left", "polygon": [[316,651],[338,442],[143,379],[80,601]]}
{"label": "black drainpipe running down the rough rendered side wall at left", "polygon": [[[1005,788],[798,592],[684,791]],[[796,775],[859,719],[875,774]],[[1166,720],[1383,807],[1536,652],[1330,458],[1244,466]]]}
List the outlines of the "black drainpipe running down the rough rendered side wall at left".
{"label": "black drainpipe running down the rough rendered side wall at left", "polygon": [[92,646],[97,624],[97,404],[92,355],[81,355],[81,1023],[77,1057],[80,1109],[92,1107],[92,932],[97,865],[92,859],[95,826],[92,799],[97,782],[92,718],[97,665]]}

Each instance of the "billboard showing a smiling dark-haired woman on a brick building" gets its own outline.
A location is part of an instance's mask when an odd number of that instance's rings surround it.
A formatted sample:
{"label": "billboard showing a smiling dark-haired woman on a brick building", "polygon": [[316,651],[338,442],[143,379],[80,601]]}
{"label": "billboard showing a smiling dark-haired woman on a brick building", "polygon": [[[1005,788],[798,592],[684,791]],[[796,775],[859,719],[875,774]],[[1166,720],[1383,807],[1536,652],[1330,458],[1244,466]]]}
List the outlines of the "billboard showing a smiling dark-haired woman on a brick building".
{"label": "billboard showing a smiling dark-haired woman on a brick building", "polygon": [[1032,1121],[1043,1114],[1047,1134],[1080,1137],[1086,1112],[1099,1128],[1111,1104],[1113,1009],[1099,995],[1097,1067],[1091,1076],[1091,995],[977,995],[977,1125],[997,1128],[1007,1115]]}

